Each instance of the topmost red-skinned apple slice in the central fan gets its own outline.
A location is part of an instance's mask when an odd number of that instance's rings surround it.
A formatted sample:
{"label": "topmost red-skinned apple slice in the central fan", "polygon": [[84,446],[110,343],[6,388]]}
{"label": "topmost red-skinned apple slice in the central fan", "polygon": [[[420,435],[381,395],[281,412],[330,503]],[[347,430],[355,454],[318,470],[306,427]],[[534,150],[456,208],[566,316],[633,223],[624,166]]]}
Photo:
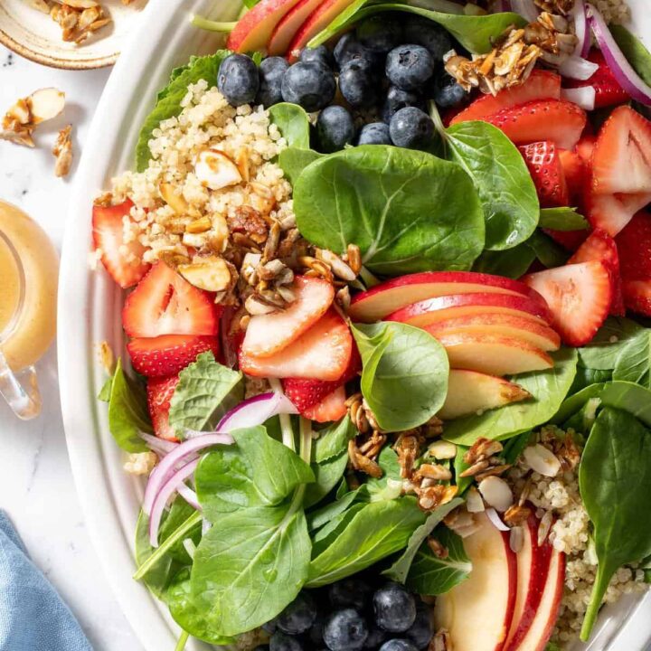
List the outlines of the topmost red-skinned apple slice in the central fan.
{"label": "topmost red-skinned apple slice in the central fan", "polygon": [[476,293],[522,296],[544,305],[538,292],[511,278],[473,271],[424,271],[392,278],[357,294],[351,303],[350,316],[354,321],[373,323],[426,298]]}

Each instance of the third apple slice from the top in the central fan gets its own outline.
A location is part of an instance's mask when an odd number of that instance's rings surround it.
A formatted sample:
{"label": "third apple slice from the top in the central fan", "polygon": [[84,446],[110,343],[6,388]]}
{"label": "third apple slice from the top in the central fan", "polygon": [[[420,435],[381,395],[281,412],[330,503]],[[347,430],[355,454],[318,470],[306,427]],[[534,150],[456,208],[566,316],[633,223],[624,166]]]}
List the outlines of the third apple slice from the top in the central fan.
{"label": "third apple slice from the top in the central fan", "polygon": [[549,325],[542,325],[531,318],[508,314],[479,314],[458,316],[428,325],[430,335],[497,335],[522,339],[543,351],[558,350],[561,337]]}

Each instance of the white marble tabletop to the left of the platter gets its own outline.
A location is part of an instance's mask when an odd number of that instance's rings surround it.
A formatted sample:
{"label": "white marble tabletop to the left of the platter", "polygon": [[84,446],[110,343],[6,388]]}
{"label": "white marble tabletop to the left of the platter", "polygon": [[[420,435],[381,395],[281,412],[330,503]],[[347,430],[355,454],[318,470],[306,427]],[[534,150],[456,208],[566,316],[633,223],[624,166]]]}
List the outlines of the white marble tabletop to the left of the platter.
{"label": "white marble tabletop to the left of the platter", "polygon": [[[61,118],[36,133],[27,149],[0,140],[0,198],[39,222],[61,249],[71,179],[94,107],[109,71],[58,71],[0,46],[0,110],[33,90],[65,91]],[[75,164],[66,180],[53,175],[52,144],[58,130],[74,128]],[[0,507],[14,520],[33,561],[61,592],[97,651],[142,651],[122,615],[90,545],[72,481],[59,406],[56,352],[38,364],[43,409],[22,422],[0,401]]]}

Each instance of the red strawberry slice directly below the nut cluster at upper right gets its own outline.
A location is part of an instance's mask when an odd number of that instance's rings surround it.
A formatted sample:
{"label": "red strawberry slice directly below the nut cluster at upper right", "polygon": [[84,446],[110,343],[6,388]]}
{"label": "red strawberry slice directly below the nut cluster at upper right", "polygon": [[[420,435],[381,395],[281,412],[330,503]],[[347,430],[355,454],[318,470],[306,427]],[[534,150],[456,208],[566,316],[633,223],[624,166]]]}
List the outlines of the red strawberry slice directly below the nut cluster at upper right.
{"label": "red strawberry slice directly below the nut cluster at upper right", "polygon": [[[452,118],[450,124],[486,119],[503,109],[510,109],[536,99],[561,99],[561,77],[554,72],[534,70],[524,84],[500,90],[495,96],[482,95],[467,109]],[[537,139],[542,140],[542,138]]]}

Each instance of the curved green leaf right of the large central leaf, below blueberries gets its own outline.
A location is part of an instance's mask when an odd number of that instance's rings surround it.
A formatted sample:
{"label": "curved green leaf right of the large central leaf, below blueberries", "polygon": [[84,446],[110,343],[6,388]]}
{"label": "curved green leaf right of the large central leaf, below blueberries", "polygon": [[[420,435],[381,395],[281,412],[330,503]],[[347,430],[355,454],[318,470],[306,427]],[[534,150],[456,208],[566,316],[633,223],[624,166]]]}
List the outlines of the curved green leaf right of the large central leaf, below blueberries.
{"label": "curved green leaf right of the large central leaf, below blueberries", "polygon": [[540,205],[524,158],[500,129],[461,122],[445,130],[448,158],[474,181],[486,220],[486,249],[511,249],[538,225]]}

